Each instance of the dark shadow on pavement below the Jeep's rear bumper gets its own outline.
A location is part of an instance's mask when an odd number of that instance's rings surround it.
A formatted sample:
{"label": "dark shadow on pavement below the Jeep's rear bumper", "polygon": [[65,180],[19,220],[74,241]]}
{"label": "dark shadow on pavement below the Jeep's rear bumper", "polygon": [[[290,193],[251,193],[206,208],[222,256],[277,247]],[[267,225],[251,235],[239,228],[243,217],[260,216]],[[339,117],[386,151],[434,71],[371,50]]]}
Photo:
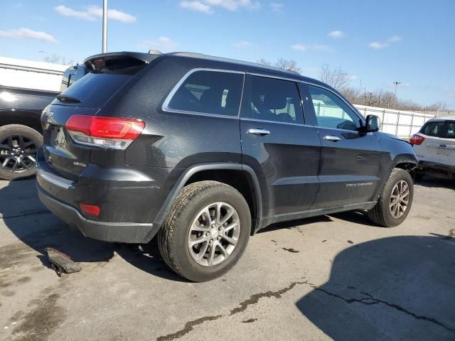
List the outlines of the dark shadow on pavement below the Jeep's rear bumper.
{"label": "dark shadow on pavement below the Jeep's rear bumper", "polygon": [[[45,248],[53,247],[62,251],[82,266],[83,263],[107,262],[116,252],[130,264],[154,276],[181,281],[164,261],[161,261],[158,247],[142,249],[136,244],[114,244],[83,237],[77,230],[68,227],[50,213],[38,199],[35,179],[0,181],[0,220],[20,242],[0,246],[0,259],[4,264],[14,264],[23,258],[31,247],[39,253],[43,266],[50,267]],[[26,245],[24,245],[26,244]],[[28,246],[28,247],[26,247]]]}

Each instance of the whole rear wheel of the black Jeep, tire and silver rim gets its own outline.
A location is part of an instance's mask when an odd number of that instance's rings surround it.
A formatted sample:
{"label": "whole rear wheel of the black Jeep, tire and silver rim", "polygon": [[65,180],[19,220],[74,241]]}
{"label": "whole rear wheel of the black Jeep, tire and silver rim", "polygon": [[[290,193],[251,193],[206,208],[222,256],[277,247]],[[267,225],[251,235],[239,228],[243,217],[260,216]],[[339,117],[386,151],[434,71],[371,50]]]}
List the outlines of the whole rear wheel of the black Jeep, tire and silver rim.
{"label": "whole rear wheel of the black Jeep, tire and silver rim", "polygon": [[200,181],[184,187],[173,203],[158,234],[159,251],[177,274],[210,281],[237,263],[250,230],[250,209],[235,188]]}

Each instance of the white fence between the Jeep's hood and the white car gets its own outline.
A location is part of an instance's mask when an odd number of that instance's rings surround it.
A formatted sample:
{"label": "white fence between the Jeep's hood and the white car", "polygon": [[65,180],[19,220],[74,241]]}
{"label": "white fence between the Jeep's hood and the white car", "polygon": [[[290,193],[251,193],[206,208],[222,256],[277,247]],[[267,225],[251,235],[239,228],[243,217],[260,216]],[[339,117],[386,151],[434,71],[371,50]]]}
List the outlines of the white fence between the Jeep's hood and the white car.
{"label": "white fence between the Jeep's hood and the white car", "polygon": [[354,106],[359,112],[365,115],[365,117],[370,114],[380,117],[382,122],[381,131],[397,135],[403,139],[407,139],[412,134],[417,133],[426,121],[434,117],[432,114],[423,114],[419,112],[367,107],[366,105],[358,104],[354,104]]}

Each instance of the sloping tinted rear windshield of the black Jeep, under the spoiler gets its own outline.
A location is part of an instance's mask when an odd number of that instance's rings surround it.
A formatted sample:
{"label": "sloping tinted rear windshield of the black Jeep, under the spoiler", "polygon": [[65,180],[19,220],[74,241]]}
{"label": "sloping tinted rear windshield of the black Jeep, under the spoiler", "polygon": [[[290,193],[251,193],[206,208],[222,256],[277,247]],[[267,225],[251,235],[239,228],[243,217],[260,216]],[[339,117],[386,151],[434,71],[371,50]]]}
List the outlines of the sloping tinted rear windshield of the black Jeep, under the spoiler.
{"label": "sloping tinted rear windshield of the black Jeep, under the spoiler", "polygon": [[[77,107],[100,108],[130,80],[144,63],[132,60],[106,60],[84,77],[74,82],[60,97],[69,97]],[[80,102],[79,102],[80,101]],[[55,99],[54,104],[63,104]]]}

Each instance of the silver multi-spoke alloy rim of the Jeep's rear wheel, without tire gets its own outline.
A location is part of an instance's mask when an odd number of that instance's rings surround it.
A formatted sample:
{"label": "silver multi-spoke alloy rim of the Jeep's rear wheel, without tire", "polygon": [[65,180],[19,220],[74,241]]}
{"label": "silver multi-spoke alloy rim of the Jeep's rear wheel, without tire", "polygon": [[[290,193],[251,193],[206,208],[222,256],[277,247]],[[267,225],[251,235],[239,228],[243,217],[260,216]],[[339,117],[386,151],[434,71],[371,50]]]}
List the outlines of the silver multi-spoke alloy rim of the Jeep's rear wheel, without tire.
{"label": "silver multi-spoke alloy rim of the Jeep's rear wheel, without tire", "polygon": [[201,266],[216,266],[232,254],[240,237],[240,218],[226,202],[214,202],[200,210],[188,233],[191,258]]}

